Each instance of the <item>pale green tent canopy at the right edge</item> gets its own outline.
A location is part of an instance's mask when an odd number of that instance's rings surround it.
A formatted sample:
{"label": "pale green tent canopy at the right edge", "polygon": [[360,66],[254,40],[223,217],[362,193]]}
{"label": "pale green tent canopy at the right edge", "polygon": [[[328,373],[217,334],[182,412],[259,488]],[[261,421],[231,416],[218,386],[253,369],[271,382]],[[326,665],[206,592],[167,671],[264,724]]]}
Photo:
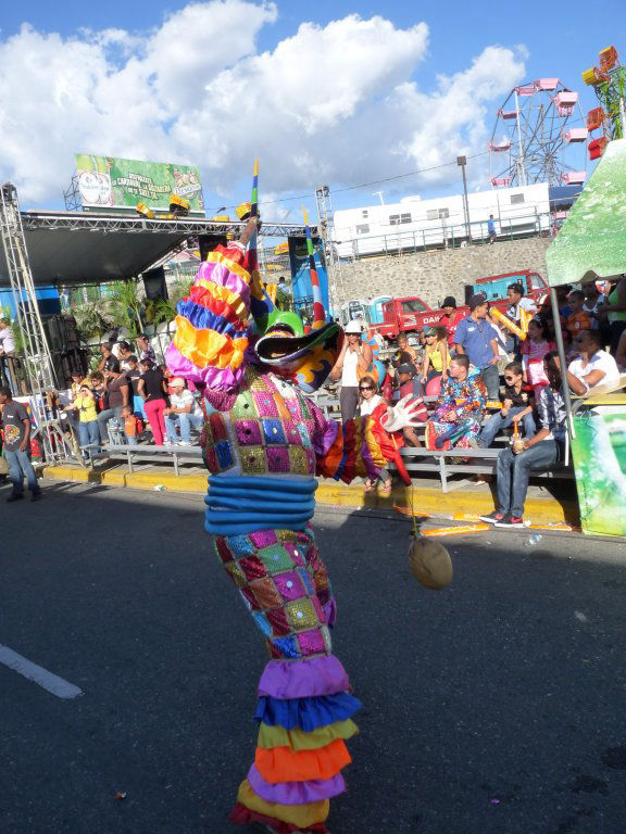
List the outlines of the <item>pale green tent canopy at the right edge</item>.
{"label": "pale green tent canopy at the right edge", "polygon": [[606,146],[546,266],[551,287],[626,273],[626,139]]}

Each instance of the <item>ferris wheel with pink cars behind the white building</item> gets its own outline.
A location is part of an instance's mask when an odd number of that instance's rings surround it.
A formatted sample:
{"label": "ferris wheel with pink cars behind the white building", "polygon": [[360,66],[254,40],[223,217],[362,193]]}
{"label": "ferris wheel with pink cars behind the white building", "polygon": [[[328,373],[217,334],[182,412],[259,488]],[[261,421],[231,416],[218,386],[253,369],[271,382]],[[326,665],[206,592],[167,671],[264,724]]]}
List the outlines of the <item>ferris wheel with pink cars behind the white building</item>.
{"label": "ferris wheel with pink cars behind the white building", "polygon": [[514,87],[498,111],[489,142],[491,185],[581,184],[587,137],[578,93],[559,78]]}

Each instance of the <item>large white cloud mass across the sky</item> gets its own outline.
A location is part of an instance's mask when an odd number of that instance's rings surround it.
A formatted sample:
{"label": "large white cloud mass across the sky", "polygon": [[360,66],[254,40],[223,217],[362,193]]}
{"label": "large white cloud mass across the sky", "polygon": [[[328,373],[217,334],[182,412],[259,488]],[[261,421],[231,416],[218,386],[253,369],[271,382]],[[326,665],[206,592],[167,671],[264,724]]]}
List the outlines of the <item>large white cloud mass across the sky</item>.
{"label": "large white cloud mass across the sky", "polygon": [[24,26],[0,41],[0,175],[23,204],[60,202],[75,150],[198,164],[227,202],[254,155],[265,194],[373,180],[485,150],[490,114],[523,80],[522,49],[487,47],[425,91],[427,25],[381,16],[303,23],[260,53],[277,14],[213,0],[148,33]]}

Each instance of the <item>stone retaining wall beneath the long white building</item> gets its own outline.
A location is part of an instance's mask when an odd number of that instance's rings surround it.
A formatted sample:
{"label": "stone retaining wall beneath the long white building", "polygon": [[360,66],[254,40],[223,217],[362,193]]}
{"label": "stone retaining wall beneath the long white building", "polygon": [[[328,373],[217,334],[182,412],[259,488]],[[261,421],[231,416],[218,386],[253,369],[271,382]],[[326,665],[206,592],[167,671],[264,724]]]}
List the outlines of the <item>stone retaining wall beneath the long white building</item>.
{"label": "stone retaining wall beneath the long white building", "polygon": [[[464,286],[477,278],[519,269],[546,277],[546,250],[551,238],[500,241],[493,245],[366,257],[341,266],[342,300],[376,295],[418,295],[431,307],[446,295],[464,301]],[[343,288],[341,287],[343,282]]]}

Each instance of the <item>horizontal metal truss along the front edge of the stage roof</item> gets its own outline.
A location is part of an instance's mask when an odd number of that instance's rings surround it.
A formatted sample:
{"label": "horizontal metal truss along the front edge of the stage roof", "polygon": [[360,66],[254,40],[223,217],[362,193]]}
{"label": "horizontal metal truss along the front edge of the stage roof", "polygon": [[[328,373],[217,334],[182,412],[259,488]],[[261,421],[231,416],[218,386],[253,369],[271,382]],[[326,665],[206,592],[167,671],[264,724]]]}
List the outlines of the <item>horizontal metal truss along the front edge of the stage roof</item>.
{"label": "horizontal metal truss along the front edge of the stage roof", "polygon": [[[152,231],[159,235],[172,233],[179,237],[198,235],[239,236],[246,226],[239,222],[206,220],[203,217],[184,217],[175,220],[148,219],[127,215],[95,215],[89,212],[22,212],[22,222],[28,229],[70,229],[107,232]],[[312,228],[315,237],[317,229]],[[287,223],[264,223],[263,237],[305,238],[304,226]]]}

